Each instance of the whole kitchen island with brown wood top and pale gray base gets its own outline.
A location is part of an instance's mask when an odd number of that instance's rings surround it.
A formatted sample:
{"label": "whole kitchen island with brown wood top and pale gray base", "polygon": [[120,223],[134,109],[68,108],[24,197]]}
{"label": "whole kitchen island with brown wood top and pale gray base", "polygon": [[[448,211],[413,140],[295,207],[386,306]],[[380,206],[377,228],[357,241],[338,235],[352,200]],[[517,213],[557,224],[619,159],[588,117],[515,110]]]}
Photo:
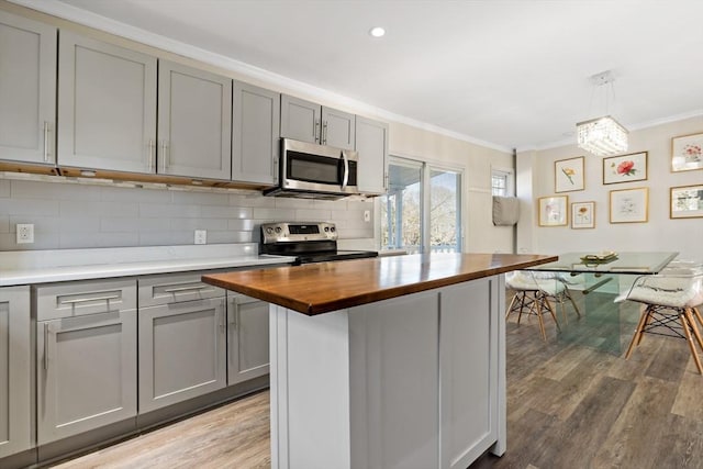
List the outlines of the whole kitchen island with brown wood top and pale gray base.
{"label": "whole kitchen island with brown wood top and pale gray base", "polygon": [[432,254],[203,276],[270,306],[271,467],[466,468],[505,450],[503,273]]}

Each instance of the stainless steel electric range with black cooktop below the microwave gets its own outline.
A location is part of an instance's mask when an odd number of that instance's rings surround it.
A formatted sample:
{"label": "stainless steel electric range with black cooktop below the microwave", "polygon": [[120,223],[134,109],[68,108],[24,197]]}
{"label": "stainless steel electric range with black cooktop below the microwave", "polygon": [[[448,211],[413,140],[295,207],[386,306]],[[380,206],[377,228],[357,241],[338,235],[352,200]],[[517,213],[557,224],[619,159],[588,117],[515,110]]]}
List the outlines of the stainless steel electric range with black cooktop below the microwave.
{"label": "stainless steel electric range with black cooktop below the microwave", "polygon": [[261,254],[294,256],[293,265],[377,257],[375,250],[337,249],[337,227],[327,222],[261,224]]}

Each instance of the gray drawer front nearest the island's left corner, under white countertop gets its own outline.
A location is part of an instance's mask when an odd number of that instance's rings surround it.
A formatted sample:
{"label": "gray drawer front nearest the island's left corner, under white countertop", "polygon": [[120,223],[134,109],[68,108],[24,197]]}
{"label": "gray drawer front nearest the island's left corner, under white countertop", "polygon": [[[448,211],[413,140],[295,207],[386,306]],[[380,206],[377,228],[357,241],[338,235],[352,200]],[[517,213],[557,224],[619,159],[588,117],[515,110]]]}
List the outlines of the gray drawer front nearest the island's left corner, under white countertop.
{"label": "gray drawer front nearest the island's left corner, under white countertop", "polygon": [[204,272],[140,277],[140,308],[224,297],[221,288],[203,283]]}

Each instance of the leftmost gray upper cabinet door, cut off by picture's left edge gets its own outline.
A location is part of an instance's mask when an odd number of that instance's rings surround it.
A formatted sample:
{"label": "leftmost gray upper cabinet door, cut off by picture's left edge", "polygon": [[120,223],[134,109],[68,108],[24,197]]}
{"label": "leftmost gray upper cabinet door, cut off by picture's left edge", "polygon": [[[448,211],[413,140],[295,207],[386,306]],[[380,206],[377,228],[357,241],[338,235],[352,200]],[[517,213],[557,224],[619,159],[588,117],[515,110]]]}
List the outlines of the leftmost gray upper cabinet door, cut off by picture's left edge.
{"label": "leftmost gray upper cabinet door, cut off by picture's left edge", "polygon": [[0,11],[0,159],[55,163],[55,27]]}

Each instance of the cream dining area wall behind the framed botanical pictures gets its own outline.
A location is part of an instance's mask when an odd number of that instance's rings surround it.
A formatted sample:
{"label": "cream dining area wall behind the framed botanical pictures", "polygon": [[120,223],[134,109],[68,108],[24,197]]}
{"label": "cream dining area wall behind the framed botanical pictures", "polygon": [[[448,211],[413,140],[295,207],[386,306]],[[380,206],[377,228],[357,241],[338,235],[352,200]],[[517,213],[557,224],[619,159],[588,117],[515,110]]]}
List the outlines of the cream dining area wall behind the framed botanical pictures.
{"label": "cream dining area wall behind the framed botanical pictures", "polygon": [[[648,178],[644,181],[606,185],[603,158],[592,156],[576,145],[517,155],[518,196],[523,206],[518,224],[518,253],[559,254],[574,250],[676,250],[682,258],[703,259],[703,219],[671,220],[669,189],[703,183],[703,171],[671,172],[671,137],[703,132],[703,118],[693,118],[631,131],[627,153],[648,152]],[[595,228],[571,230],[569,226],[540,227],[537,199],[555,196],[554,161],[584,156],[585,189],[560,193],[571,202],[595,201]],[[523,188],[521,189],[521,185]],[[532,193],[525,190],[532,185]],[[610,223],[611,190],[649,188],[647,223]],[[527,188],[528,189],[528,188]]]}

